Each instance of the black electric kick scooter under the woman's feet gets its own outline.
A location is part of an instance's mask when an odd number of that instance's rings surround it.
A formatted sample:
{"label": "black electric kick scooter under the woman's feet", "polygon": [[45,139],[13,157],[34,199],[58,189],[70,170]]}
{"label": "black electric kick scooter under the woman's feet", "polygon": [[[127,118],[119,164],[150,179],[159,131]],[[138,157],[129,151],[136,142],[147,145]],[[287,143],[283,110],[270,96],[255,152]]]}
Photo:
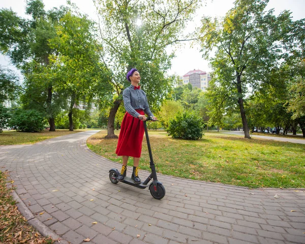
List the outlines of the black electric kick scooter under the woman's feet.
{"label": "black electric kick scooter under the woman's feet", "polygon": [[[147,117],[146,121],[149,121],[149,120],[156,121],[151,117]],[[141,188],[141,189],[144,189],[148,186],[151,196],[153,196],[156,199],[162,199],[165,196],[165,188],[164,188],[163,184],[160,181],[158,181],[158,179],[157,179],[156,167],[155,167],[154,160],[153,160],[153,154],[151,154],[151,148],[150,148],[150,143],[149,143],[149,138],[148,138],[146,121],[143,121],[143,123],[144,123],[144,131],[145,131],[148,153],[149,153],[149,158],[150,158],[149,168],[151,169],[151,174],[148,176],[148,178],[144,182],[142,181],[140,184],[135,184],[134,181],[131,179],[131,177],[128,177],[128,176],[125,176],[124,180],[121,181],[121,183],[129,184],[129,185]],[[109,170],[109,179],[110,179],[111,183],[117,184],[118,183],[117,177],[119,175],[120,175],[120,173],[117,169],[112,168],[111,170]],[[151,182],[148,185],[150,180],[152,180],[153,182]]]}

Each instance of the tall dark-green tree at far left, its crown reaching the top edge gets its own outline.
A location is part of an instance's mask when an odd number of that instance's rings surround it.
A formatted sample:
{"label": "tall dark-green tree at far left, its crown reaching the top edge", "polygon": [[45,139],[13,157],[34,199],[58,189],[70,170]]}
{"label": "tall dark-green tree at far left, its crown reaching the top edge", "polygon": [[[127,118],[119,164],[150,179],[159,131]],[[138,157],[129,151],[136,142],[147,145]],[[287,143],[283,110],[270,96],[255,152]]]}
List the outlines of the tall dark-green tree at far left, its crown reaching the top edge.
{"label": "tall dark-green tree at far left, its crown reaching the top edge", "polygon": [[[54,117],[56,111],[59,111],[55,107],[58,102],[54,102],[53,96],[54,80],[50,77],[37,77],[44,74],[43,71],[49,66],[49,56],[56,54],[56,50],[48,45],[49,39],[56,36],[55,25],[66,11],[67,8],[60,7],[46,12],[41,0],[26,2],[26,14],[32,16],[30,20],[18,17],[12,10],[0,11],[1,51],[21,69],[25,76],[24,88],[28,89],[23,99],[27,105],[34,102],[40,106],[40,110],[44,110],[50,131],[55,131]],[[35,95],[33,92],[36,92]],[[39,99],[35,101],[32,98]]]}

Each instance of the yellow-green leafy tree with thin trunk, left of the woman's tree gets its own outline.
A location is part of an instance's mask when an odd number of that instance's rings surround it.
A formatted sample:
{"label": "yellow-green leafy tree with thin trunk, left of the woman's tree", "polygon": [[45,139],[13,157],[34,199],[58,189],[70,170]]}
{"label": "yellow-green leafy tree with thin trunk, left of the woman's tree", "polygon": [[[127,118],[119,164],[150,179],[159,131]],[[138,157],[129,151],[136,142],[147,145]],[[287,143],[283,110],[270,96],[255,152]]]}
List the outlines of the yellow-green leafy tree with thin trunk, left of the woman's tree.
{"label": "yellow-green leafy tree with thin trunk, left of the woman's tree", "polygon": [[[101,45],[94,38],[94,23],[86,16],[74,16],[67,13],[56,27],[56,37],[50,39],[50,47],[58,53],[50,55],[51,77],[60,80],[55,90],[65,91],[69,97],[69,130],[73,130],[73,108],[82,102],[87,109],[99,94],[110,92],[107,87],[107,70],[98,55]],[[56,70],[56,74],[54,74]],[[108,75],[109,77],[109,75]],[[97,92],[100,83],[103,90]]]}

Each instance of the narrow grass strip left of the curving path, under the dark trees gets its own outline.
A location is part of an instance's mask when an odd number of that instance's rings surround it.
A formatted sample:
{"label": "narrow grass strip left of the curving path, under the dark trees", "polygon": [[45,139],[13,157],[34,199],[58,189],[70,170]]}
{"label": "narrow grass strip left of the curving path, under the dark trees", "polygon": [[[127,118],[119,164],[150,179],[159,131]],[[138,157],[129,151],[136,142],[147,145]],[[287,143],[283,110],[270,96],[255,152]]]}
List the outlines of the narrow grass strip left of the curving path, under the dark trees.
{"label": "narrow grass strip left of the curving path, under the dark trees", "polygon": [[17,144],[34,144],[50,138],[59,137],[71,133],[84,131],[85,129],[78,129],[74,131],[56,129],[56,131],[43,130],[41,132],[18,132],[18,131],[3,131],[0,133],[0,145],[17,145]]}

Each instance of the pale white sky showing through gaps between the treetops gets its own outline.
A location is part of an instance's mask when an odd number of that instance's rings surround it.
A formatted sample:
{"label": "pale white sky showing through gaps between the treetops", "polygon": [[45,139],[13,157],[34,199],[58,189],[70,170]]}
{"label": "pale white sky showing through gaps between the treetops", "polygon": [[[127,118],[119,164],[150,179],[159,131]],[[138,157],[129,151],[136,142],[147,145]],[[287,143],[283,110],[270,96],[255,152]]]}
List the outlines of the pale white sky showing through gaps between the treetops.
{"label": "pale white sky showing through gaps between the treetops", "polygon": [[[47,10],[60,5],[66,5],[65,0],[43,0]],[[76,4],[82,13],[85,13],[97,20],[96,9],[92,0],[71,0],[71,3]],[[234,5],[234,0],[207,0],[200,9],[197,10],[194,21],[187,27],[187,31],[191,31],[195,26],[200,24],[200,19],[203,15],[211,17],[223,17],[226,12]],[[12,8],[19,16],[26,17],[25,0],[0,0],[0,8]],[[289,10],[292,14],[293,20],[305,18],[305,0],[270,0],[266,10],[275,9],[275,15],[279,15],[283,10]],[[184,46],[175,50],[175,58],[172,60],[172,67],[168,74],[184,75],[193,69],[200,69],[202,71],[211,71],[207,60],[202,58],[200,47],[195,45],[191,48],[191,43],[185,43]],[[8,57],[0,55],[0,64],[8,66],[15,70],[10,65]],[[17,72],[18,73],[18,72]]]}

